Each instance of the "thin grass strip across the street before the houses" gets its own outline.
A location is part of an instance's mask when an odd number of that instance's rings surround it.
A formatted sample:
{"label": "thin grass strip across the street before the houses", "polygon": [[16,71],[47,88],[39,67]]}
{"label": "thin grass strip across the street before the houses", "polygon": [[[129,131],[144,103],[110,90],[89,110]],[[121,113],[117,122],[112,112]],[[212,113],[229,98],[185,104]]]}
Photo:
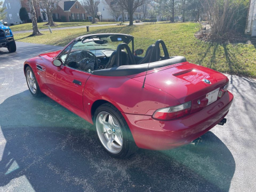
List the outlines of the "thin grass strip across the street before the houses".
{"label": "thin grass strip across the street before the houses", "polygon": [[[92,22],[55,22],[58,26],[54,26],[51,28],[66,28],[66,27],[73,27],[73,26],[88,26],[88,25],[95,25],[92,24]],[[114,24],[119,22],[97,22],[96,24]],[[44,26],[46,22],[38,22],[38,29],[47,29],[48,26]],[[26,23],[26,24],[19,24],[15,26],[10,26],[12,31],[26,31],[26,30],[32,30],[32,24]]]}

